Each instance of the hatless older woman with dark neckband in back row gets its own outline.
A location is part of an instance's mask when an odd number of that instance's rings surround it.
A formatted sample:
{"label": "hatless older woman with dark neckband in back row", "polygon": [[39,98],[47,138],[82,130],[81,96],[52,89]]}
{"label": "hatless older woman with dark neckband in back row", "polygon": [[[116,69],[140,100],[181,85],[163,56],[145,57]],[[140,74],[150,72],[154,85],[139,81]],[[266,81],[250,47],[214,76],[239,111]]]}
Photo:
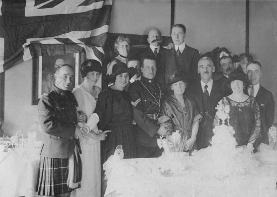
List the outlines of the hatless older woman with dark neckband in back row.
{"label": "hatless older woman with dark neckband in back row", "polygon": [[118,54],[108,65],[107,75],[112,74],[113,65],[119,62],[126,63],[130,52],[131,41],[127,36],[118,36],[114,42],[114,51]]}

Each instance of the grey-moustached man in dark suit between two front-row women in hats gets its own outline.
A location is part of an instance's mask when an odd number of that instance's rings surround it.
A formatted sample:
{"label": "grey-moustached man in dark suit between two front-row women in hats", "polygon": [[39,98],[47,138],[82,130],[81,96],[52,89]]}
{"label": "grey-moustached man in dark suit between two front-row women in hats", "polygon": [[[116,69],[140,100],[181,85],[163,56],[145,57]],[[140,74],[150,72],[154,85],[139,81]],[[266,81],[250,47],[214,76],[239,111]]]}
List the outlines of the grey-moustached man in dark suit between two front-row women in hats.
{"label": "grey-moustached man in dark suit between two front-row women in hats", "polygon": [[215,107],[221,100],[220,84],[213,81],[215,66],[210,57],[201,57],[198,61],[198,73],[200,80],[188,86],[186,94],[194,99],[196,106],[203,116],[198,128],[196,143],[198,149],[206,148],[210,145],[213,133]]}

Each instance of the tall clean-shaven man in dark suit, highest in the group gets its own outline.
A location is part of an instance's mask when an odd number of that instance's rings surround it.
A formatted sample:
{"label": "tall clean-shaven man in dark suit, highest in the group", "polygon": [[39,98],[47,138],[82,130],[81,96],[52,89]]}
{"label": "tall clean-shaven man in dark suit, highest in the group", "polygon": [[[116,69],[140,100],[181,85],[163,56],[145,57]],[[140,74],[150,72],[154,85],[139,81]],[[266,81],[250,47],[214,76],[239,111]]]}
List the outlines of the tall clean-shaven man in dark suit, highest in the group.
{"label": "tall clean-shaven man in dark suit, highest in the group", "polygon": [[[161,66],[164,72],[164,83],[168,83],[168,77],[175,71],[188,74],[189,83],[197,78],[197,63],[200,58],[199,51],[185,44],[186,28],[182,24],[171,27],[171,38],[174,47],[166,50],[162,55]],[[167,89],[168,93],[172,92]]]}

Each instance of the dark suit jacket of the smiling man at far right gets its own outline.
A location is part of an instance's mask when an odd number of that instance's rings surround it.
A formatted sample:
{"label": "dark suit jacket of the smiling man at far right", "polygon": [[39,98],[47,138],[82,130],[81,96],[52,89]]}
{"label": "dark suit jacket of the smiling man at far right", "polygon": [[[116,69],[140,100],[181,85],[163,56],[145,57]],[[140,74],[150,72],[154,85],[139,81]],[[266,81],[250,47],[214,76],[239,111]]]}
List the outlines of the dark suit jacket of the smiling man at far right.
{"label": "dark suit jacket of the smiling man at far right", "polygon": [[[244,93],[248,95],[247,88],[244,89]],[[262,128],[262,138],[257,143],[268,144],[268,128],[272,126],[274,119],[274,107],[275,102],[273,95],[270,91],[266,90],[260,85],[258,93],[256,95],[256,101],[260,108],[261,116],[261,128]],[[256,143],[256,142],[255,142]]]}

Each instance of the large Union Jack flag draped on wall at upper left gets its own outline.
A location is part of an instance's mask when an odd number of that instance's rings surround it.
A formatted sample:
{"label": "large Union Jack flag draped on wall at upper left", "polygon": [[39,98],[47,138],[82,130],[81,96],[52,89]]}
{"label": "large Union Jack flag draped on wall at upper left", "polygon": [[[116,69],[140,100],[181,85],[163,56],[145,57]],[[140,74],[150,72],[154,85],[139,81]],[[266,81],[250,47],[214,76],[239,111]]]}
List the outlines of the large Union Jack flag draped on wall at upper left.
{"label": "large Union Jack flag draped on wall at upper left", "polygon": [[112,0],[0,0],[0,73],[40,55],[101,62]]}

